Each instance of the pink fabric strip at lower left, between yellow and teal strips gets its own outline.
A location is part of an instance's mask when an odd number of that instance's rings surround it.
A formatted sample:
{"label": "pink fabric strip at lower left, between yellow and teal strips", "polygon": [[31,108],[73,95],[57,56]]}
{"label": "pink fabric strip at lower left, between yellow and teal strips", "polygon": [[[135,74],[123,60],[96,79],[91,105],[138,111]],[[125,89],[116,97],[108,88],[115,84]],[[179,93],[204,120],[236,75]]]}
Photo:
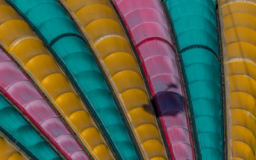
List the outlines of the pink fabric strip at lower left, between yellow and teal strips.
{"label": "pink fabric strip at lower left, between yellow and teal strips", "polygon": [[76,154],[80,159],[88,159],[60,117],[1,48],[0,90],[30,118],[67,159],[71,159],[69,156],[72,154]]}

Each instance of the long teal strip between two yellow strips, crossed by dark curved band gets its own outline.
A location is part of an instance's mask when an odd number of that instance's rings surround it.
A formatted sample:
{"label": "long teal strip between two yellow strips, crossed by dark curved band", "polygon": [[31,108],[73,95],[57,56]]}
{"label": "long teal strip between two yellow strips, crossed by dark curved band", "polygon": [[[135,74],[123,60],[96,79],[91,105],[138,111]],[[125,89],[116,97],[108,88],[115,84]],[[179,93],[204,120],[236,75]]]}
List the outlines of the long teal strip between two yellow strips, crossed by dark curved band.
{"label": "long teal strip between two yellow strips, crossed by dark curved band", "polygon": [[104,76],[86,43],[79,38],[81,35],[74,22],[62,6],[54,0],[10,2],[31,21],[47,45],[53,40],[54,43],[52,42],[50,46],[53,54],[67,70],[68,76],[84,99],[88,100],[88,104],[92,104],[92,113],[107,138],[110,137],[109,141],[113,141],[114,150],[120,153],[122,159],[138,159],[134,143]]}

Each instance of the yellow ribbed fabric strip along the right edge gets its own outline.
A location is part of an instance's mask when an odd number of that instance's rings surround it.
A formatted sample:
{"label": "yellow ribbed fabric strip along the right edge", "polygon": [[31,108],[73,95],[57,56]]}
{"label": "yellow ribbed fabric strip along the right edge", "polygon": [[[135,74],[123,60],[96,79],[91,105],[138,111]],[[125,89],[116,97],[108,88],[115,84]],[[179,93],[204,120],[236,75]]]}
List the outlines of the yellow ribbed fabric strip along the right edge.
{"label": "yellow ribbed fabric strip along the right edge", "polygon": [[[228,158],[255,159],[256,150],[256,1],[220,0],[225,38]],[[228,3],[226,3],[228,2]],[[224,49],[225,51],[225,49]],[[229,105],[229,106],[228,106]]]}

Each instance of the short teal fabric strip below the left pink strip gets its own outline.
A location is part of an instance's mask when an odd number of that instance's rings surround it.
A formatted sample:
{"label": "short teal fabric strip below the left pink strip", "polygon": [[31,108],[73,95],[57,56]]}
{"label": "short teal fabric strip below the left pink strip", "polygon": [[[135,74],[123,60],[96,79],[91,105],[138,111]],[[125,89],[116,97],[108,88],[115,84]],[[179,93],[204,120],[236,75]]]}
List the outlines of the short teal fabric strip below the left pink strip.
{"label": "short teal fabric strip below the left pink strip", "polygon": [[61,159],[19,112],[0,96],[0,126],[38,159]]}

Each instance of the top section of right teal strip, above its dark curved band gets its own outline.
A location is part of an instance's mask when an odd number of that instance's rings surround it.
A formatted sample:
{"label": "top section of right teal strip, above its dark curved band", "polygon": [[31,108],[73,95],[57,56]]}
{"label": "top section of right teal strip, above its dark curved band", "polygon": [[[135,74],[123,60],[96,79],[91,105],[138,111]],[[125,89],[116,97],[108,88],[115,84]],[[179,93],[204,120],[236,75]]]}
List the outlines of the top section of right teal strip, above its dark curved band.
{"label": "top section of right teal strip, above its dark curved band", "polygon": [[196,44],[210,47],[219,54],[215,7],[209,0],[169,0],[166,6],[172,17],[180,50]]}

